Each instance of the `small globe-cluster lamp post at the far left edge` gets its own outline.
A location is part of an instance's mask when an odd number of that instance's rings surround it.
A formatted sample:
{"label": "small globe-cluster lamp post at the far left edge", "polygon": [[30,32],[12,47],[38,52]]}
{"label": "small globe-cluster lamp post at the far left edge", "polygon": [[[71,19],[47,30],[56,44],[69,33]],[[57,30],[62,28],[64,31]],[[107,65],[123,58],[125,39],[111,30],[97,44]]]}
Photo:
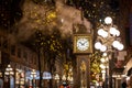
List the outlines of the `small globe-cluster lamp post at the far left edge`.
{"label": "small globe-cluster lamp post at the far left edge", "polygon": [[[8,76],[8,82],[10,84],[10,78],[11,76],[14,75],[13,68],[11,67],[11,65],[8,65],[8,67],[6,68],[4,75]],[[11,84],[9,86],[10,86],[9,88],[13,88]]]}

